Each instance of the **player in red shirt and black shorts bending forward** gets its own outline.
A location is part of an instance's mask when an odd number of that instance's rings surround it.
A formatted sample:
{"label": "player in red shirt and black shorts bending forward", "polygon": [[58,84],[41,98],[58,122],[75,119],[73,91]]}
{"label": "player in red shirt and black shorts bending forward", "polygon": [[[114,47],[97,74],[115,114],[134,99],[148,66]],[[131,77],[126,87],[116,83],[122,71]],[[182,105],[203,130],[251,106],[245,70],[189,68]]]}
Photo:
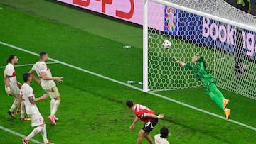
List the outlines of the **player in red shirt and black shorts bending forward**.
{"label": "player in red shirt and black shorts bending forward", "polygon": [[134,128],[135,123],[137,123],[139,119],[145,122],[144,127],[138,133],[137,144],[142,143],[143,136],[149,141],[149,143],[154,143],[149,133],[153,130],[154,126],[156,126],[158,119],[164,118],[164,114],[156,115],[154,111],[146,106],[134,104],[132,101],[127,101],[126,106],[128,109],[134,111],[135,114],[135,119],[129,127],[130,129]]}

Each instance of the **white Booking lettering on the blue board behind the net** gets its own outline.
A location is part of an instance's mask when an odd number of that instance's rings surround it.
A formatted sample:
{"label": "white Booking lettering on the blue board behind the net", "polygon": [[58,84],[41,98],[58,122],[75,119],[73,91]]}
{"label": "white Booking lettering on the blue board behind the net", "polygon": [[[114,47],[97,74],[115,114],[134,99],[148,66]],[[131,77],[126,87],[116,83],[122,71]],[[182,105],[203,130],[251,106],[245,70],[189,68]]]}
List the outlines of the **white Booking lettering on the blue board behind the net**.
{"label": "white Booking lettering on the blue board behind the net", "polygon": [[[219,40],[221,43],[228,45],[236,45],[236,29],[228,24],[223,23],[210,23],[209,18],[203,17],[203,30],[202,35],[205,38],[212,38],[212,40]],[[246,55],[253,56],[256,54],[255,34],[248,31],[242,31],[243,48]]]}

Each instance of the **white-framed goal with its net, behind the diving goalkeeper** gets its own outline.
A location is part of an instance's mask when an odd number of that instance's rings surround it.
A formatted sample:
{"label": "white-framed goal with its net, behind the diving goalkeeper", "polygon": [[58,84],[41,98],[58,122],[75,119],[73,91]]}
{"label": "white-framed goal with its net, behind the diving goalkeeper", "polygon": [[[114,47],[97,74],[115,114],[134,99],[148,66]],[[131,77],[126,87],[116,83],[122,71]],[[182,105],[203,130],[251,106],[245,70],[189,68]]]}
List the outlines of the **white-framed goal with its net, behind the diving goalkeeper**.
{"label": "white-framed goal with its net, behind the diving goalkeeper", "polygon": [[144,0],[144,91],[203,87],[171,60],[201,53],[218,87],[256,99],[255,35],[256,17],[223,0]]}

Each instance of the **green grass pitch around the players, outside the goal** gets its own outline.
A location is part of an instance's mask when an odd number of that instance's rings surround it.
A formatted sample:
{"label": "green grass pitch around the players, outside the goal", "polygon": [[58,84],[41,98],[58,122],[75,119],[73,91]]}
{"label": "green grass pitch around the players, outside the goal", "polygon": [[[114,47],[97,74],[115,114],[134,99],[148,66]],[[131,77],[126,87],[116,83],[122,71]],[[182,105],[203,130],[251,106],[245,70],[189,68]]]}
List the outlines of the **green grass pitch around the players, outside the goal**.
{"label": "green grass pitch around the players, outside the goal", "polygon": [[[120,82],[142,81],[142,28],[55,1],[1,0],[0,7],[0,41],[36,53],[46,51],[56,60]],[[132,48],[124,49],[124,45]],[[18,55],[18,65],[38,60],[35,55],[0,44],[0,66],[6,65],[5,60],[11,53]],[[54,143],[135,143],[144,123],[139,122],[134,130],[129,130],[134,114],[125,106],[127,99],[165,114],[151,135],[167,126],[171,132],[170,143],[256,143],[256,131],[249,128],[65,65],[49,67],[53,76],[65,77],[63,83],[58,84],[62,101],[56,114],[60,118],[57,126],[50,125],[47,118],[50,99],[37,104],[46,119],[48,139]],[[30,69],[31,66],[16,67],[20,82],[22,74]],[[3,72],[1,68],[0,75]],[[33,129],[30,122],[7,115],[13,99],[4,92],[3,77],[0,82],[0,126],[28,135]],[[36,96],[44,94],[36,82],[32,87]],[[255,100],[222,92],[230,99],[231,119],[256,127]],[[224,116],[203,88],[157,94]],[[42,141],[40,134],[34,139]],[[21,137],[0,129],[0,143],[21,143]],[[143,143],[147,143],[146,140]]]}

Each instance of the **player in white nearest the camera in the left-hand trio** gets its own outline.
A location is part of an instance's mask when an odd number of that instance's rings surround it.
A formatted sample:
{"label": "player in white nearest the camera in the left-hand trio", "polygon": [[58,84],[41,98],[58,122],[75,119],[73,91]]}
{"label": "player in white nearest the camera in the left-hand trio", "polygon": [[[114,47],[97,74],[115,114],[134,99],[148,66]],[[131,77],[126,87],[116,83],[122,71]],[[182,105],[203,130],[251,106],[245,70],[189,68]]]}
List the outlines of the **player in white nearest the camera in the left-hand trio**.
{"label": "player in white nearest the camera in the left-hand trio", "polygon": [[[26,113],[31,118],[31,126],[36,128],[33,129],[33,131],[26,137],[22,139],[23,144],[28,144],[28,141],[33,138],[33,136],[37,135],[39,132],[41,132],[41,135],[43,137],[43,143],[44,144],[53,144],[50,143],[47,139],[46,135],[46,123],[43,120],[43,117],[41,116],[41,113],[38,110],[38,107],[36,106],[36,102],[41,101],[42,99],[47,99],[47,94],[43,94],[43,96],[35,98],[33,88],[30,86],[32,77],[31,74],[23,74],[23,80],[24,84],[21,86],[21,99],[24,101],[25,107],[26,107]],[[19,99],[19,102],[21,101]],[[18,106],[17,113],[19,113],[20,109]]]}

